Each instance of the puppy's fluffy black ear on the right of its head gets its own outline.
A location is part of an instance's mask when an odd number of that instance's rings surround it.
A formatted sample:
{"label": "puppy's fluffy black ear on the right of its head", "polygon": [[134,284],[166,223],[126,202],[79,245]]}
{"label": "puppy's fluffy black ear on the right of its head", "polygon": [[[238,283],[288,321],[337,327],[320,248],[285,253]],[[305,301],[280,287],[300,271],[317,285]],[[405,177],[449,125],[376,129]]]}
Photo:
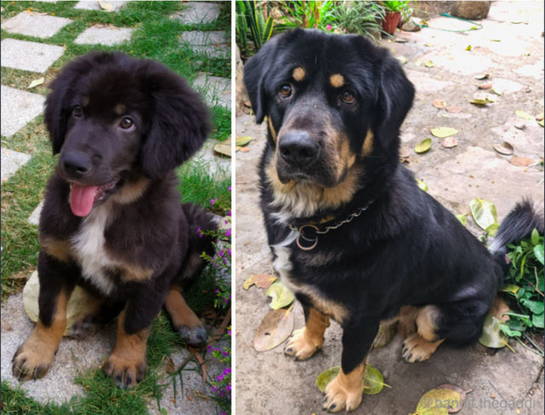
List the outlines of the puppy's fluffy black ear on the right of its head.
{"label": "puppy's fluffy black ear on the right of its head", "polygon": [[210,116],[198,94],[166,66],[143,61],[139,69],[152,105],[140,163],[148,177],[161,177],[201,148]]}

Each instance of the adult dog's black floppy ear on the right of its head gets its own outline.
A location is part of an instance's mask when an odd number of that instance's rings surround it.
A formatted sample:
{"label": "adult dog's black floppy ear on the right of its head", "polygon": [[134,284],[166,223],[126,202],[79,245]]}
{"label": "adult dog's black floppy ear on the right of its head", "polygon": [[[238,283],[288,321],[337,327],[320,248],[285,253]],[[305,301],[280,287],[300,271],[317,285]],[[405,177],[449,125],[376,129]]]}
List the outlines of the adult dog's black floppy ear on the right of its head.
{"label": "adult dog's black floppy ear on the right of its head", "polygon": [[[397,60],[386,50],[379,68],[377,133],[398,150],[399,129],[411,109],[414,87]],[[395,143],[391,143],[394,140]]]}

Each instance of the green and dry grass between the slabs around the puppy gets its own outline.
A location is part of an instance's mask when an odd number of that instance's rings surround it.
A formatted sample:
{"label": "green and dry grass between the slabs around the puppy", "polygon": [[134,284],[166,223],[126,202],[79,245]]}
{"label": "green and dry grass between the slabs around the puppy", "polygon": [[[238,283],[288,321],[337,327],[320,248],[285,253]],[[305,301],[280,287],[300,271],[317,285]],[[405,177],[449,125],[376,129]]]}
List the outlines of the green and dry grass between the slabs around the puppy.
{"label": "green and dry grass between the slabs around the puppy", "polygon": [[[1,68],[2,85],[27,90],[28,85],[42,76],[43,85],[31,89],[35,94],[48,94],[47,85],[59,73],[61,68],[75,57],[91,50],[120,50],[134,57],[155,59],[169,66],[173,71],[191,82],[196,73],[207,72],[209,75],[230,78],[230,59],[208,59],[195,55],[189,48],[180,45],[180,36],[187,30],[219,30],[231,32],[230,4],[221,5],[219,19],[212,24],[194,26],[182,25],[169,16],[184,8],[183,3],[173,1],[142,1],[127,3],[117,13],[104,13],[98,10],[75,10],[75,1],[41,3],[31,1],[2,1],[3,20],[31,10],[36,13],[48,13],[67,17],[73,22],[61,29],[51,38],[41,39],[31,36],[8,34],[1,31],[2,39],[15,38],[24,41],[61,45],[64,54],[44,74]],[[115,47],[103,45],[76,45],[75,38],[87,27],[96,24],[113,27],[130,27],[133,36],[129,43]],[[231,134],[231,111],[219,106],[210,108],[212,113],[212,140],[225,140]],[[1,184],[1,298],[22,289],[24,282],[36,268],[38,256],[38,229],[28,223],[28,218],[43,198],[43,191],[48,177],[54,168],[57,157],[52,156],[48,133],[39,116],[10,138],[2,137],[2,147],[31,154],[32,158],[15,175]],[[177,169],[180,177],[180,192],[183,201],[199,203],[217,214],[225,214],[231,207],[229,186],[230,175],[210,177],[209,166],[188,163]],[[212,206],[210,200],[217,198]],[[217,297],[218,273],[209,267],[191,287],[187,299],[189,306],[198,315],[207,316],[207,326],[218,326],[223,318],[221,310],[215,310]],[[223,312],[224,313],[224,312]],[[181,372],[194,371],[189,367],[178,368],[174,373],[164,370],[169,356],[180,347],[184,347],[173,330],[166,316],[161,313],[154,321],[148,340],[147,358],[149,369],[145,380],[131,389],[119,390],[112,379],[100,370],[83,372],[75,379],[85,390],[85,395],[73,398],[63,405],[42,405],[28,398],[18,386],[2,381],[2,414],[146,414],[147,402],[159,400],[165,385],[171,384],[173,377],[180,377]],[[106,357],[106,356],[105,356]],[[210,357],[210,356],[208,356]],[[194,361],[195,365],[198,363]],[[177,391],[178,399],[184,399]]]}

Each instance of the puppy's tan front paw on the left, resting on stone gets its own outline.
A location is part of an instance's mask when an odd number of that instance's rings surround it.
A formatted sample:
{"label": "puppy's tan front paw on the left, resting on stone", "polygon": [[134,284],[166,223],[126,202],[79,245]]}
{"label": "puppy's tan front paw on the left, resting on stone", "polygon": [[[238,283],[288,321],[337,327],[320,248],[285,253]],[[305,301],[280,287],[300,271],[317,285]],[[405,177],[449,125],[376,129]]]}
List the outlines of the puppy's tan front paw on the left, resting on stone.
{"label": "puppy's tan front paw on the left, resting on stone", "polygon": [[13,376],[20,381],[36,380],[48,372],[55,355],[54,348],[29,338],[13,355]]}

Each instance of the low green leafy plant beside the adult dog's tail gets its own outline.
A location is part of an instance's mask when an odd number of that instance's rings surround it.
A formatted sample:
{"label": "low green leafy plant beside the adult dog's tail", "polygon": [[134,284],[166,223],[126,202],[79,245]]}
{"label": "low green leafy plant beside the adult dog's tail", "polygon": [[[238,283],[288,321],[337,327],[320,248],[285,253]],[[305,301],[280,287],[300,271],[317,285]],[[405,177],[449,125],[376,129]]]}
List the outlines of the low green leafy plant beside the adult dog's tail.
{"label": "low green leafy plant beside the adult dog's tail", "polygon": [[502,291],[511,307],[509,320],[500,325],[509,337],[525,336],[527,330],[543,333],[544,329],[544,238],[536,229],[530,238],[509,245],[506,255],[509,271]]}

